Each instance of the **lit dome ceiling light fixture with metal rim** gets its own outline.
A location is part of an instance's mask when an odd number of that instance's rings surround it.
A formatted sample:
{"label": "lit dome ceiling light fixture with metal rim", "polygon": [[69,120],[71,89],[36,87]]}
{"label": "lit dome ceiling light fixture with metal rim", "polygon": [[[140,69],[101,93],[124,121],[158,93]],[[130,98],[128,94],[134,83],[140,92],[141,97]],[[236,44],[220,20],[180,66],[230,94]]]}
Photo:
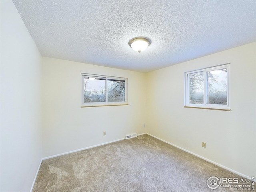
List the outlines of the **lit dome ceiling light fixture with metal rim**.
{"label": "lit dome ceiling light fixture with metal rim", "polygon": [[138,51],[140,53],[151,44],[151,40],[146,37],[135,37],[132,38],[128,44],[134,51]]}

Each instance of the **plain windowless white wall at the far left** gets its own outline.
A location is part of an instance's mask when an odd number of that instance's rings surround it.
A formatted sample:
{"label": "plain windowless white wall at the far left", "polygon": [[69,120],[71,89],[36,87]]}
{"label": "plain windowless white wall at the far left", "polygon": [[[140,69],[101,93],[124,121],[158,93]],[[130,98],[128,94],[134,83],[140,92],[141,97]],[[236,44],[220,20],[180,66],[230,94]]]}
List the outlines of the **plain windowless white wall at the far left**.
{"label": "plain windowless white wall at the far left", "polygon": [[42,158],[42,57],[12,1],[0,7],[0,191],[28,192]]}

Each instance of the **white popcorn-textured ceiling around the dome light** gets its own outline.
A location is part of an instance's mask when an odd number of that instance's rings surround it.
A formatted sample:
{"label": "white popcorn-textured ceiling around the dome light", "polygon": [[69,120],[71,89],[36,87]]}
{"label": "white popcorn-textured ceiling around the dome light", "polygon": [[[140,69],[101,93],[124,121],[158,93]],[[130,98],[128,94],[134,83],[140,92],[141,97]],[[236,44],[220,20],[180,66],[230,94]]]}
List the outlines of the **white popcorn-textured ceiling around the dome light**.
{"label": "white popcorn-textured ceiling around the dome light", "polygon": [[149,72],[256,41],[256,0],[13,2],[42,56],[100,66]]}

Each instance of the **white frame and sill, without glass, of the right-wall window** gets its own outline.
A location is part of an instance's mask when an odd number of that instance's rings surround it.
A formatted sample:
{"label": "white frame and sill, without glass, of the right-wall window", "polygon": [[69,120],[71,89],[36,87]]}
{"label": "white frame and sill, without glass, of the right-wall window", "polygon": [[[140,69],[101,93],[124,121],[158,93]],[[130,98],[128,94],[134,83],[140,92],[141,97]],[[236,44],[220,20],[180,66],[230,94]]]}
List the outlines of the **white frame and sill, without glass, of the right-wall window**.
{"label": "white frame and sill, without glass, of the right-wall window", "polygon": [[[227,68],[227,78],[228,78],[228,93],[227,93],[227,105],[219,105],[219,104],[206,104],[206,99],[207,95],[206,93],[208,92],[208,86],[207,86],[207,72],[212,71],[212,70],[218,70],[218,69],[223,69]],[[200,108],[200,109],[212,109],[212,110],[224,110],[224,111],[231,111],[230,107],[230,71],[231,71],[231,66],[230,63],[228,64],[223,64],[223,65],[218,65],[218,66],[212,66],[212,67],[207,67],[207,68],[202,68],[199,70],[192,70],[188,72],[184,72],[184,107],[185,108]],[[193,73],[198,73],[198,72],[203,72],[204,76],[204,104],[191,104],[189,103],[189,74]]]}

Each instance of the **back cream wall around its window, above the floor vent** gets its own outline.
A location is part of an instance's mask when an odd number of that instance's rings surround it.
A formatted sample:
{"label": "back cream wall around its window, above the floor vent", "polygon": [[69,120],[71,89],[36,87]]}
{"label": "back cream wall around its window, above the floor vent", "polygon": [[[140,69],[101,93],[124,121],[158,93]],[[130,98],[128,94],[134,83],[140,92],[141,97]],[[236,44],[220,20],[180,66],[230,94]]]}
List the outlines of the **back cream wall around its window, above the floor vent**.
{"label": "back cream wall around its window, above the floor vent", "polygon": [[[81,73],[128,78],[129,105],[81,108]],[[146,74],[43,57],[44,157],[144,133],[145,122]]]}

